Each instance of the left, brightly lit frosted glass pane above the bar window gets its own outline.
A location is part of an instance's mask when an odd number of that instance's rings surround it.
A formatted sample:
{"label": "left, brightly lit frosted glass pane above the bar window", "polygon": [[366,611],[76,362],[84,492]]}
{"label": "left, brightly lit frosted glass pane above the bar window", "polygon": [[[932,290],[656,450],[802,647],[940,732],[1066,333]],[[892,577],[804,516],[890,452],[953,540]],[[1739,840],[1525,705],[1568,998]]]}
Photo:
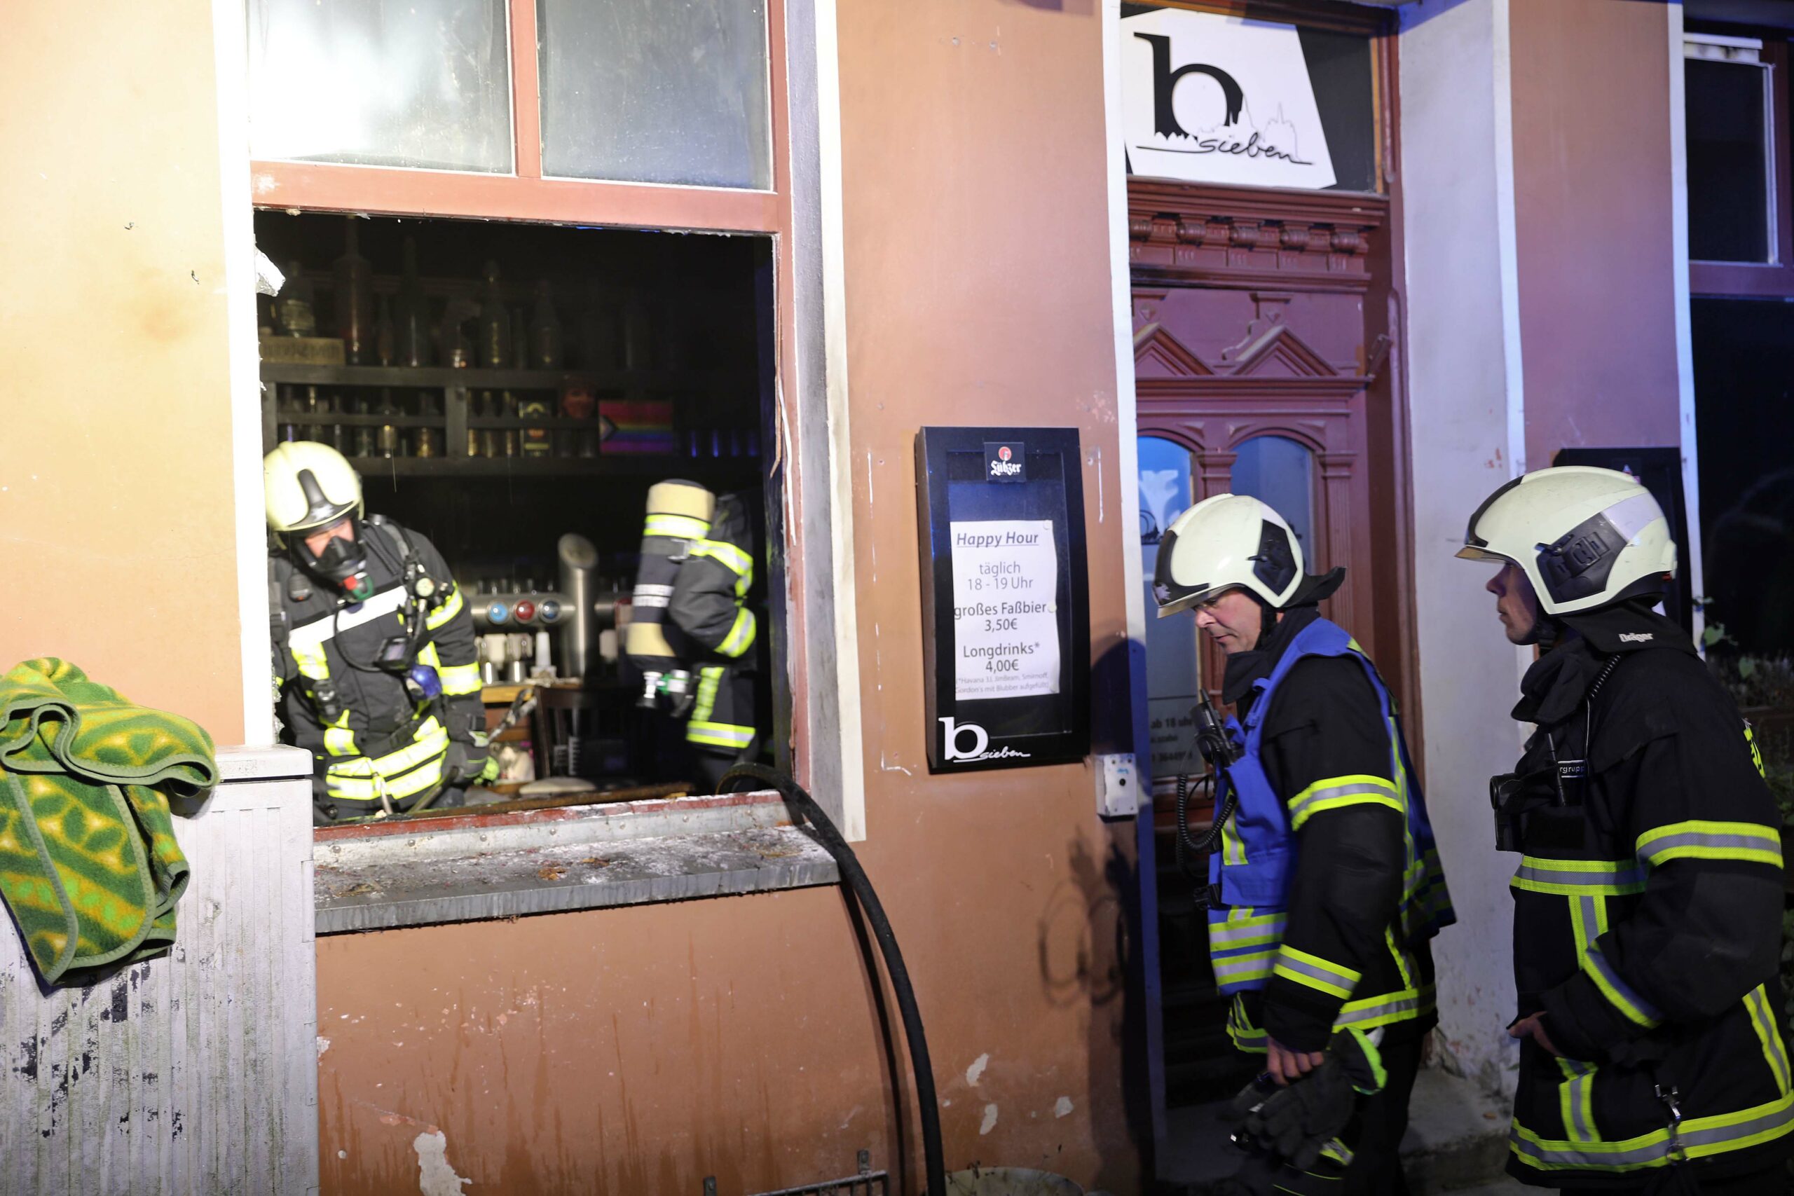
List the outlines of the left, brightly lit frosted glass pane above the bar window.
{"label": "left, brightly lit frosted glass pane above the bar window", "polygon": [[249,0],[257,158],[511,169],[504,0]]}

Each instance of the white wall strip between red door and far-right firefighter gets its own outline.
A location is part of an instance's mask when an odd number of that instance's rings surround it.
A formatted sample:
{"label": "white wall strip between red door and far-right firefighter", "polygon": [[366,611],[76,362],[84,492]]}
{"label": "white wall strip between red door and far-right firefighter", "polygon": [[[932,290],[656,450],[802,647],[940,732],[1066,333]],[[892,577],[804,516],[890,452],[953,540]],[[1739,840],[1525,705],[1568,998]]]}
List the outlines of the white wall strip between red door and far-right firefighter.
{"label": "white wall strip between red door and far-right firefighter", "polygon": [[1520,755],[1521,656],[1491,568],[1455,559],[1469,513],[1523,468],[1507,0],[1423,0],[1401,14],[1414,585],[1426,800],[1459,925],[1437,940],[1441,1027],[1462,1069],[1511,1088],[1516,857],[1494,852],[1487,782]]}

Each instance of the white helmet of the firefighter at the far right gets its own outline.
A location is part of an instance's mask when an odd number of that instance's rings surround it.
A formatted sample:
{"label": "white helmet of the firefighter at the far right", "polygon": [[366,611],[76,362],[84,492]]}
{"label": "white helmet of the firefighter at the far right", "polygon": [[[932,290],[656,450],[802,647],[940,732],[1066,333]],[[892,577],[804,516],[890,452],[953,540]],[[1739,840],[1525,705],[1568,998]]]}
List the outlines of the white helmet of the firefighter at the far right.
{"label": "white helmet of the firefighter at the far right", "polygon": [[1676,576],[1663,507],[1631,473],[1563,464],[1523,473],[1469,516],[1469,561],[1512,561],[1548,615],[1656,595]]}

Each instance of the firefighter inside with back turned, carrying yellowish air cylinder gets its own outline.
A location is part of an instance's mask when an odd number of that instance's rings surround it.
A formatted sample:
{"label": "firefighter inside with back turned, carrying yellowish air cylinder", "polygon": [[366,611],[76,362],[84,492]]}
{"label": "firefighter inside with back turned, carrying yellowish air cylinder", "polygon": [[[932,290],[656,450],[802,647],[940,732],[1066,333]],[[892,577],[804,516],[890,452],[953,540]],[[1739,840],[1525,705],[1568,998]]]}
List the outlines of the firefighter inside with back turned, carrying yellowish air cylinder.
{"label": "firefighter inside with back turned, carrying yellowish air cylinder", "polygon": [[761,748],[753,556],[741,497],[678,479],[649,488],[624,653],[640,672],[637,703],[684,724],[703,793]]}

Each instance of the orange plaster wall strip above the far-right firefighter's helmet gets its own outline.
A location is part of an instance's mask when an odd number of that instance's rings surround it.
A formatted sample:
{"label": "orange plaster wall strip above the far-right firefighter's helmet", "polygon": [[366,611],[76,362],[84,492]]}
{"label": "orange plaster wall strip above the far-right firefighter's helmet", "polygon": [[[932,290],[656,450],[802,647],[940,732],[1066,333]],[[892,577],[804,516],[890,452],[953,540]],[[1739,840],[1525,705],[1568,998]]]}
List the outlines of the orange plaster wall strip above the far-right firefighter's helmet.
{"label": "orange plaster wall strip above the far-right firefighter's helmet", "polygon": [[1677,445],[1665,5],[1511,13],[1527,464]]}

